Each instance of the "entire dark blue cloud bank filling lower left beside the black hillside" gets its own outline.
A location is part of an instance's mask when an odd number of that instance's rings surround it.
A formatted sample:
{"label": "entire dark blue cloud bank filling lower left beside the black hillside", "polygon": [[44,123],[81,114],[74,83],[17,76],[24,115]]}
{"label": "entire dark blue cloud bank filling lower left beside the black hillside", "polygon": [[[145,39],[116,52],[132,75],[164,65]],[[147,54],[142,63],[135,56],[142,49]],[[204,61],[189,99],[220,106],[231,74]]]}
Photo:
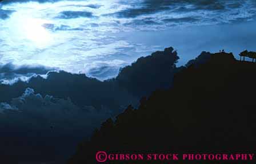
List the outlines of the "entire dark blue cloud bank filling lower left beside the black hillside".
{"label": "entire dark blue cloud bank filling lower left beside the black hillside", "polygon": [[[177,60],[177,52],[170,47],[139,58],[123,68],[116,79],[107,81],[59,71],[47,73],[47,78],[36,76],[27,82],[0,84],[4,93],[0,93],[0,145],[10,137],[16,143],[1,146],[0,151],[17,154],[15,159],[30,160],[72,154],[77,141],[89,136],[102,120],[122,112],[129,104],[138,104],[141,96],[170,86]],[[115,68],[110,66],[106,62],[105,67],[91,72],[111,74]],[[12,70],[16,70],[12,64],[2,67],[2,72]]]}

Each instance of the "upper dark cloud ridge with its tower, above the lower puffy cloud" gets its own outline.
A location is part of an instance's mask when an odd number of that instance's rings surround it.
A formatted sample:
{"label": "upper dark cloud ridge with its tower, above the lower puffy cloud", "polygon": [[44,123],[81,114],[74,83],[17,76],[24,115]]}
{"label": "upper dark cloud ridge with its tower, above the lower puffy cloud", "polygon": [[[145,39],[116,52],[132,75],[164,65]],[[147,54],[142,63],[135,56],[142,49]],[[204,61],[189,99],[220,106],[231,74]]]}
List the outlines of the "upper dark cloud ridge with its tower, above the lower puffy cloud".
{"label": "upper dark cloud ridge with its tower, above the lower puffy cloud", "polygon": [[[59,71],[47,73],[47,78],[36,76],[31,77],[27,82],[18,81],[13,85],[1,84],[0,91],[15,92],[0,95],[0,102],[8,103],[13,97],[21,95],[26,88],[33,88],[42,96],[52,95],[62,99],[70,97],[72,102],[81,108],[91,105],[97,110],[111,109],[113,113],[117,113],[121,105],[135,103],[138,97],[148,95],[157,88],[166,88],[171,85],[174,65],[178,60],[177,52],[172,50],[172,48],[166,48],[165,51],[157,51],[145,58],[139,58],[132,65],[123,68],[116,79],[109,81],[99,81],[83,74]],[[145,65],[145,63],[148,64]],[[115,64],[106,62],[102,64],[103,67],[94,67],[90,73],[94,76],[103,74],[111,76],[118,72],[119,68],[115,67]],[[138,84],[138,90],[135,84]]]}

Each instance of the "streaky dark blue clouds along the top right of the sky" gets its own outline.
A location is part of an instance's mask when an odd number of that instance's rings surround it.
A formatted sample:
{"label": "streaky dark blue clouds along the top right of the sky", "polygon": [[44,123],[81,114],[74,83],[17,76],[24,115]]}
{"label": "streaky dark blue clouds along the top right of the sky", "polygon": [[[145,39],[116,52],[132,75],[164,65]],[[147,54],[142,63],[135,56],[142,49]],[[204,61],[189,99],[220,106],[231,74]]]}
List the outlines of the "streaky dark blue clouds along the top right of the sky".
{"label": "streaky dark blue clouds along the top right of the sky", "polygon": [[[139,2],[131,1],[129,5],[130,7],[127,7],[127,9],[107,15],[129,19],[130,23],[125,23],[126,25],[134,24],[135,26],[137,24],[144,26],[155,23],[158,25],[156,27],[170,27],[173,25],[181,26],[185,23],[190,24],[191,22],[216,24],[232,23],[234,20],[239,22],[242,19],[250,20],[255,15],[253,11],[256,10],[251,0],[246,2],[239,0],[145,0]],[[238,15],[234,16],[234,13],[238,13]],[[148,18],[154,19],[146,20]],[[162,19],[165,23],[159,23],[159,19]],[[140,22],[137,20],[140,20]]]}

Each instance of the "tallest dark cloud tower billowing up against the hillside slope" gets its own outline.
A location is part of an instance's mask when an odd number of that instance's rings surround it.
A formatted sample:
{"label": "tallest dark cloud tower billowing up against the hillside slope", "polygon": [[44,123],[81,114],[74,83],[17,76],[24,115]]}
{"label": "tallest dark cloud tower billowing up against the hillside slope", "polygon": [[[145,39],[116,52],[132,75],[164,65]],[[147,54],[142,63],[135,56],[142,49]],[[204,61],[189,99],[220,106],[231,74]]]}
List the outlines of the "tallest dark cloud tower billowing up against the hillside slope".
{"label": "tallest dark cloud tower billowing up against the hillside slope", "polygon": [[116,78],[117,83],[133,95],[149,95],[155,89],[170,88],[178,59],[173,47],[141,57],[121,69]]}

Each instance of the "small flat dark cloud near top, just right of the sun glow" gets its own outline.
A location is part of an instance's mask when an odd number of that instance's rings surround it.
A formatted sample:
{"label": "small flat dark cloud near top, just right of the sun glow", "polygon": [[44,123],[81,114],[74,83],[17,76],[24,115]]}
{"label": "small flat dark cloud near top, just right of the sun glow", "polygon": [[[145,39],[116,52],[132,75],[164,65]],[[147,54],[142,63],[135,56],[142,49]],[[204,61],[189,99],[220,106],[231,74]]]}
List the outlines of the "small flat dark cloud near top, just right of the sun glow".
{"label": "small flat dark cloud near top, just right of the sun glow", "polygon": [[93,13],[89,11],[62,11],[59,13],[58,17],[59,19],[74,19],[74,18],[92,18]]}

